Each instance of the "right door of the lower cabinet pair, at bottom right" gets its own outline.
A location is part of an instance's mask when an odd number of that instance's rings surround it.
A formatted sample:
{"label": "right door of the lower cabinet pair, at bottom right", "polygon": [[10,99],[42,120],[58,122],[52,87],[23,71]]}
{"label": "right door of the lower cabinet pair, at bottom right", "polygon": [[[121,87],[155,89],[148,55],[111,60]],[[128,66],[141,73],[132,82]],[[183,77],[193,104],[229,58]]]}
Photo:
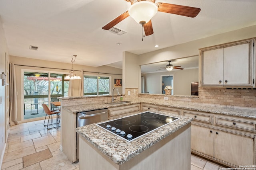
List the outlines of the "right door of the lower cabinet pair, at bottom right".
{"label": "right door of the lower cabinet pair, at bottom right", "polygon": [[236,166],[255,165],[255,137],[215,130],[214,159]]}

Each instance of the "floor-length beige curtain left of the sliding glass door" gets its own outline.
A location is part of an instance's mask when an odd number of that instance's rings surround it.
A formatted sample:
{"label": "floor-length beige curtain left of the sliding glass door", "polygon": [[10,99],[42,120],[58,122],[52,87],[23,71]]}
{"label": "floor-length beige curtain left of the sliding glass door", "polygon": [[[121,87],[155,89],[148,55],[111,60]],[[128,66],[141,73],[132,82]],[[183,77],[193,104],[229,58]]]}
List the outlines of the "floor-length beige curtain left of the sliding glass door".
{"label": "floor-length beige curtain left of the sliding glass door", "polygon": [[10,126],[18,125],[19,122],[17,121],[17,95],[16,95],[16,76],[15,76],[15,68],[14,64],[10,63]]}

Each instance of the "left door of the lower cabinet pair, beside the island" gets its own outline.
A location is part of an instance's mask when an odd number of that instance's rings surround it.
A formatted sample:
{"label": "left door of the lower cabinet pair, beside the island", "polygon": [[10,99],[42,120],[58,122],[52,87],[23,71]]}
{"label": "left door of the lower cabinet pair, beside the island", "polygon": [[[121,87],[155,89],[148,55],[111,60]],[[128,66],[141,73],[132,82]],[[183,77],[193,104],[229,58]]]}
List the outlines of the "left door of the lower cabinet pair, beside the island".
{"label": "left door of the lower cabinet pair, beside the island", "polygon": [[214,157],[214,130],[192,124],[191,149]]}

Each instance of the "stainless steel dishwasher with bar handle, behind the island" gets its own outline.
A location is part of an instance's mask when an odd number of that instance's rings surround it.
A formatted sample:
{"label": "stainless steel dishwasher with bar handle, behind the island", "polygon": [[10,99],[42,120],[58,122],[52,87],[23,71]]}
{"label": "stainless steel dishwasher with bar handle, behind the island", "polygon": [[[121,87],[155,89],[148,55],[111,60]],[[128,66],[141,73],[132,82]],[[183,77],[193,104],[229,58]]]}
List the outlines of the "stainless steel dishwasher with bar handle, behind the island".
{"label": "stainless steel dishwasher with bar handle, behind the island", "polygon": [[[98,109],[92,111],[79,112],[76,115],[76,127],[98,123],[108,120],[108,109]],[[76,157],[79,159],[79,137],[76,134]]]}

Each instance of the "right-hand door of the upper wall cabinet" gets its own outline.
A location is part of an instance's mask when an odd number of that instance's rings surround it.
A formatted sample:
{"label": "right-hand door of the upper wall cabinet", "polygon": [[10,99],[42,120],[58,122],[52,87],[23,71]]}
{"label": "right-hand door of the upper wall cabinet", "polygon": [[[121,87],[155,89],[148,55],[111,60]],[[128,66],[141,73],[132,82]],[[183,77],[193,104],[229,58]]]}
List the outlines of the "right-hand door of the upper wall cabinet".
{"label": "right-hand door of the upper wall cabinet", "polygon": [[250,85],[250,43],[224,47],[224,84]]}

